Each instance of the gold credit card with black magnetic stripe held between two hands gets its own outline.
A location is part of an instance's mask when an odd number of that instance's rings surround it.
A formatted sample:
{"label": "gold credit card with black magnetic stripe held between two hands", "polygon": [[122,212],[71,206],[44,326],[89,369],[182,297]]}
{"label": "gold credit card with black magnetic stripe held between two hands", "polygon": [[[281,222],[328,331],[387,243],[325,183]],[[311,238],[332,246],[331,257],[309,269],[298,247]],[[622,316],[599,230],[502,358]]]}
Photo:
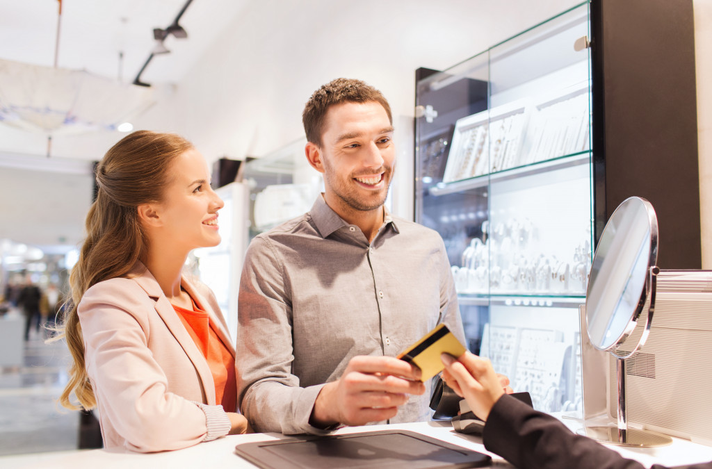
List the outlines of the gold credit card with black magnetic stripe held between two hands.
{"label": "gold credit card with black magnetic stripe held between two hands", "polygon": [[416,365],[423,372],[420,380],[426,381],[445,368],[440,354],[449,353],[458,358],[465,352],[466,348],[463,344],[456,339],[446,325],[441,324],[408,347],[398,358]]}

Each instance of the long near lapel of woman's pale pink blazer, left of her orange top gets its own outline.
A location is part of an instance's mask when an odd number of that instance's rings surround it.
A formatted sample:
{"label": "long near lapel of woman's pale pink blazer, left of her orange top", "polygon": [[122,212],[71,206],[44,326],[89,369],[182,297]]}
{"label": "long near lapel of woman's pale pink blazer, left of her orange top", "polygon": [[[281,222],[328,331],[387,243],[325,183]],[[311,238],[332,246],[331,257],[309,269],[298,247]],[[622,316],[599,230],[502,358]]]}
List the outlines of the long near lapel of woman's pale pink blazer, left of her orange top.
{"label": "long near lapel of woman's pale pink blazer, left of her orange top", "polygon": [[[142,264],[141,264],[142,266]],[[133,280],[138,283],[141,288],[143,288],[146,293],[153,298],[156,302],[156,312],[161,317],[165,323],[168,330],[170,330],[173,337],[177,340],[180,346],[183,348],[184,352],[187,354],[193,366],[198,372],[198,376],[203,386],[203,393],[205,394],[206,404],[211,406],[215,405],[215,382],[213,381],[213,375],[206,362],[205,357],[200,352],[200,349],[190,337],[190,334],[185,329],[183,322],[178,317],[177,312],[173,309],[173,306],[168,301],[166,295],[163,294],[160,285],[150,273],[150,271],[144,267],[144,272],[140,273]]]}

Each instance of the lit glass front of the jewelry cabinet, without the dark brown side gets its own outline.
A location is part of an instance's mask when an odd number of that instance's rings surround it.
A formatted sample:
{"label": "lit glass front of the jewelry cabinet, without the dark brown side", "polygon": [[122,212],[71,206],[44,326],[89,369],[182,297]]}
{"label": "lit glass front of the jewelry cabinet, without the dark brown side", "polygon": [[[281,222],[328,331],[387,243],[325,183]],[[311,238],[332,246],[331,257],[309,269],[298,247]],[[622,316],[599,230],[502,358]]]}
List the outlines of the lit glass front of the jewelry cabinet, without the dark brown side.
{"label": "lit glass front of the jewelry cabinet, without the dark brown side", "polygon": [[445,241],[468,348],[542,411],[582,406],[588,32],[582,4],[453,68],[419,70],[416,91],[416,219]]}

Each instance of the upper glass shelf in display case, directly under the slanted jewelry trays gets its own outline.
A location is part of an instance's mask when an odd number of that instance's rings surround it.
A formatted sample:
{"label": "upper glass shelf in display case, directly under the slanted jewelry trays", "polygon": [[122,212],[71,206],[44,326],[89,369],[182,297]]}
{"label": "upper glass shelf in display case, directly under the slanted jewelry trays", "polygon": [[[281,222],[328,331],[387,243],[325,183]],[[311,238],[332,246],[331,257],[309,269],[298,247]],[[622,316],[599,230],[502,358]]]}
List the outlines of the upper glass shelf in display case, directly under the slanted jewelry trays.
{"label": "upper glass shelf in display case, directly under the slanted jewelry trays", "polygon": [[454,182],[439,182],[436,186],[428,189],[431,196],[444,196],[446,194],[454,194],[456,192],[468,191],[470,189],[478,189],[481,187],[496,184],[498,181],[507,181],[517,179],[523,176],[531,176],[533,174],[542,174],[557,169],[577,166],[579,164],[590,164],[591,152],[578,152],[575,154],[567,154],[562,157],[547,159],[543,162],[527,164],[525,166],[504,169],[503,171],[484,174],[470,179],[461,179]]}

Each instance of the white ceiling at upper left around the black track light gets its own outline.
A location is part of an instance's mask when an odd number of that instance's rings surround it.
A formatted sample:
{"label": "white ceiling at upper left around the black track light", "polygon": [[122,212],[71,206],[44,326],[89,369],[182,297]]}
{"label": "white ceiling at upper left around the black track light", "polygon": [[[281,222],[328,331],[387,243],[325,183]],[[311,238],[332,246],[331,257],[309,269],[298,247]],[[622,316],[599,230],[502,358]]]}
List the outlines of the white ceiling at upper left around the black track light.
{"label": "white ceiling at upper left around the black track light", "polygon": [[[153,28],[166,28],[187,0],[0,0],[0,58],[88,70],[131,83],[152,48]],[[177,83],[248,0],[194,0],[180,24],[186,39],[169,36],[169,54],[155,56],[146,83]],[[119,53],[123,52],[120,67]],[[122,70],[119,76],[119,70]]]}

